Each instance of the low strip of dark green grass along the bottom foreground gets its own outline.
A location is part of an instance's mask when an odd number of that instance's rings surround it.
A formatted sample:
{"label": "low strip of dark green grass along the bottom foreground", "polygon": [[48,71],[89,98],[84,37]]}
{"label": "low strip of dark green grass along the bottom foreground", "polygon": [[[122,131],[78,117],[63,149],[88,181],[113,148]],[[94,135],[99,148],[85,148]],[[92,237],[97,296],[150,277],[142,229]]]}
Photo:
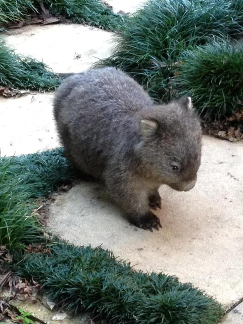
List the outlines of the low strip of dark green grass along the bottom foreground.
{"label": "low strip of dark green grass along the bottom foreground", "polygon": [[92,312],[107,323],[213,324],[222,307],[191,284],[163,273],[135,272],[101,248],[51,246],[49,255],[27,254],[14,267],[43,284],[65,309]]}

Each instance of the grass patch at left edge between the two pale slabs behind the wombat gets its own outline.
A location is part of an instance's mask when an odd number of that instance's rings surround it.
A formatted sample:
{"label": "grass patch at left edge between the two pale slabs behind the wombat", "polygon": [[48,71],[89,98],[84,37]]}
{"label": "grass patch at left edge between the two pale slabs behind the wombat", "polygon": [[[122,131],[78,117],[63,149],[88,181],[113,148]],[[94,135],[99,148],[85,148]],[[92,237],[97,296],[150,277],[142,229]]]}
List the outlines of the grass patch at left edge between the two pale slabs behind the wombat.
{"label": "grass patch at left edge between the two pale slabs behind the wombat", "polygon": [[45,64],[24,58],[0,40],[0,86],[31,90],[53,90],[60,78],[46,69]]}

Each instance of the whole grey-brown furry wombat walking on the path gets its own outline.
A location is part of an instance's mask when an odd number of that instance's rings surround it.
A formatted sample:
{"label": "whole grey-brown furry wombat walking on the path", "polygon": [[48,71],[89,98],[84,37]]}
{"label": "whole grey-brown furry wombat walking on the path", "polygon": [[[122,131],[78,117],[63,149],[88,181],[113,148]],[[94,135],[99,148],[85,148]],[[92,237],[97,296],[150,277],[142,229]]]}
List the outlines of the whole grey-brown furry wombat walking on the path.
{"label": "whole grey-brown furry wombat walking on the path", "polygon": [[112,67],[69,76],[54,99],[65,156],[102,179],[129,221],[161,227],[158,188],[188,191],[201,161],[201,126],[191,98],[156,105],[131,77]]}

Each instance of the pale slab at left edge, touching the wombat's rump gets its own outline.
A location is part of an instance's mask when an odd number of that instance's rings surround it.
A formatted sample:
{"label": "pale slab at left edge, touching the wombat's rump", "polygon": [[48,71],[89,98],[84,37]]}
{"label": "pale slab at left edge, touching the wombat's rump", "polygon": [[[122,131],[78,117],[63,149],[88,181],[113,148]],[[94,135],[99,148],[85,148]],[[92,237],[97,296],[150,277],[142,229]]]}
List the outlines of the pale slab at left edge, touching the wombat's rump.
{"label": "pale slab at left edge, touching the wombat's rump", "polygon": [[45,151],[60,146],[52,115],[53,93],[0,98],[1,156]]}

